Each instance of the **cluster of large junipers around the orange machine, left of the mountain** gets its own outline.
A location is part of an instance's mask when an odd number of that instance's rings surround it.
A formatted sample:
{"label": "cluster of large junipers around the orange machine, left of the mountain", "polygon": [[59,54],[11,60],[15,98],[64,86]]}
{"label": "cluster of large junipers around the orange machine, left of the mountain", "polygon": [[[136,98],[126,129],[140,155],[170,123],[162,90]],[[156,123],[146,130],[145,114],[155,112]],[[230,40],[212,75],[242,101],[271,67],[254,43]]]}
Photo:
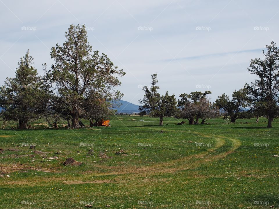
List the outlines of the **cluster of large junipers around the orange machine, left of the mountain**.
{"label": "cluster of large junipers around the orange machine, left of the mountain", "polygon": [[124,76],[123,69],[110,61],[107,55],[92,52],[84,25],[70,25],[66,41],[51,48],[54,64],[39,76],[33,58],[26,52],[18,62],[15,78],[7,78],[0,87],[1,119],[17,121],[17,128],[26,129],[29,122],[45,118],[53,127],[60,120],[79,128],[80,118],[98,120],[114,114],[117,100],[123,94],[115,90]]}

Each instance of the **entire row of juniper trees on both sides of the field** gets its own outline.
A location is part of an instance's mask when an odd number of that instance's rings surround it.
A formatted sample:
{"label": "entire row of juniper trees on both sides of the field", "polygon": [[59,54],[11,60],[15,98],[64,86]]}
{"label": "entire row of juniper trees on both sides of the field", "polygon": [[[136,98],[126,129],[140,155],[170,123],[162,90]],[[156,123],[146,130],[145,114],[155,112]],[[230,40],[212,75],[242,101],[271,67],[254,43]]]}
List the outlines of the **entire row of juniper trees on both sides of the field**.
{"label": "entire row of juniper trees on both sides of the field", "polygon": [[[81,118],[90,120],[90,126],[102,118],[115,114],[114,107],[123,96],[115,90],[125,75],[110,59],[99,51],[92,51],[87,41],[84,25],[70,25],[65,33],[66,41],[51,48],[54,64],[44,75],[39,76],[33,65],[29,50],[18,62],[15,78],[6,78],[0,87],[0,118],[17,121],[17,128],[26,129],[28,123],[45,118],[53,127],[60,120],[67,120],[68,127],[79,128]],[[151,87],[143,87],[144,97],[139,100],[140,115],[163,118],[173,116],[189,121],[189,124],[204,124],[210,118],[223,116],[230,122],[238,118],[260,116],[268,119],[271,127],[279,115],[279,50],[274,42],[262,51],[263,59],[251,60],[247,70],[257,76],[250,84],[234,91],[230,98],[225,93],[215,102],[210,101],[211,91],[182,93],[177,101],[168,91],[161,95],[157,74],[153,74]],[[246,110],[248,109],[248,111]]]}

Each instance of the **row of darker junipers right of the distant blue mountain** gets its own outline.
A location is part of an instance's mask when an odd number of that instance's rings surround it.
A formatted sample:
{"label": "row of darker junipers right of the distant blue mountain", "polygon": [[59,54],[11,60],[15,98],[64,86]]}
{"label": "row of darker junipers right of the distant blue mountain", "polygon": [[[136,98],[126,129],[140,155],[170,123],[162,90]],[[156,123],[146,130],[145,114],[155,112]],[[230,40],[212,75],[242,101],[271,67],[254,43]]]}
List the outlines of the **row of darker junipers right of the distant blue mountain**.
{"label": "row of darker junipers right of the distant blue mountain", "polygon": [[[251,60],[247,70],[257,76],[251,84],[244,84],[244,87],[232,93],[230,98],[223,93],[210,102],[211,91],[195,91],[189,94],[179,95],[177,101],[174,94],[165,95],[158,93],[157,74],[152,75],[151,87],[143,87],[144,98],[139,100],[140,114],[148,113],[150,116],[160,118],[159,125],[163,125],[163,118],[174,116],[189,121],[189,124],[201,124],[210,118],[223,116],[230,122],[235,122],[239,118],[256,118],[260,116],[268,119],[267,127],[270,128],[274,118],[279,115],[279,50],[274,42],[265,46],[262,50],[263,59]],[[248,109],[248,110],[247,110]]]}

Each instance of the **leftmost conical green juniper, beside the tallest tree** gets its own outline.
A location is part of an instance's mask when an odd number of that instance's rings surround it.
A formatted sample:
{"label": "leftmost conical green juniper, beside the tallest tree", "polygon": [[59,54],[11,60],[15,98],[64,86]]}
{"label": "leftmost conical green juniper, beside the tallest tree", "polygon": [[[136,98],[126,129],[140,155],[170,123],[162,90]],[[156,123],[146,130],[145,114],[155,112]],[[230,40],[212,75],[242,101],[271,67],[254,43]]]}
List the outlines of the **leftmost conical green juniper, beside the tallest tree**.
{"label": "leftmost conical green juniper, beside the tallest tree", "polygon": [[33,68],[29,50],[20,58],[15,78],[7,78],[1,86],[0,105],[4,120],[18,121],[18,128],[26,129],[27,123],[41,117],[50,97],[48,87]]}

